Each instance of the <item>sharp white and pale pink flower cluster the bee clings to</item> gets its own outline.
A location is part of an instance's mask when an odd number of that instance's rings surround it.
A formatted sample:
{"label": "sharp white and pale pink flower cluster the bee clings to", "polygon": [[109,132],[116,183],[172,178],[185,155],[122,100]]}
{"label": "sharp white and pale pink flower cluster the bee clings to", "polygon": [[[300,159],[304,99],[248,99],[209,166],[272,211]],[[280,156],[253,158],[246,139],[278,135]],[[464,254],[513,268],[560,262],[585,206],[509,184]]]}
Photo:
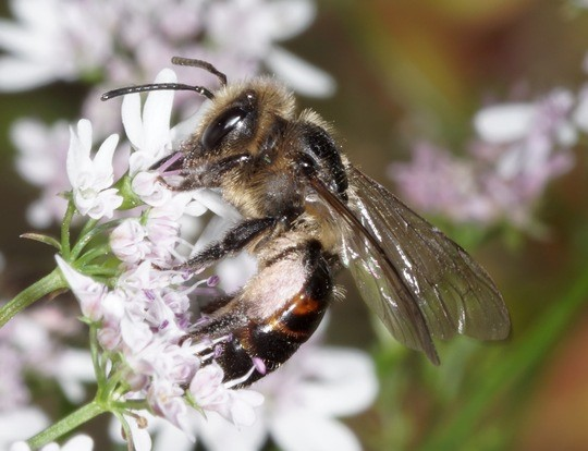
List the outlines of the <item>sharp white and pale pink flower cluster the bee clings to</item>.
{"label": "sharp white and pale pink flower cluster the bee clings to", "polygon": [[[156,83],[173,81],[171,70],[163,70],[156,78]],[[207,208],[198,202],[198,192],[175,193],[159,181],[164,164],[148,170],[171,150],[175,134],[170,129],[173,92],[151,93],[143,111],[138,100],[138,94],[123,100],[123,123],[133,148],[124,176],[130,180],[131,193],[113,187],[117,135],[109,136],[91,158],[91,125],[82,120],[72,130],[66,158],[71,202],[81,216],[90,221],[110,219],[128,197],[133,205],[143,205],[132,217],[102,226],[109,234],[108,247],[120,260],[110,282],[100,281],[103,275],[99,268],[93,272],[91,251],[70,258],[71,264],[57,257],[103,350],[101,357],[95,356],[97,377],[120,380],[110,388],[113,397],[145,400],[151,412],[187,435],[192,435],[191,405],[219,412],[236,425],[252,424],[253,407],[260,404],[260,395],[230,390],[222,383],[220,367],[200,368],[197,353],[206,345],[183,340],[191,327],[188,294],[207,281],[188,284],[192,275],[173,269],[183,258],[177,252],[180,220],[185,215],[201,215]],[[81,260],[85,265],[76,263]]]}

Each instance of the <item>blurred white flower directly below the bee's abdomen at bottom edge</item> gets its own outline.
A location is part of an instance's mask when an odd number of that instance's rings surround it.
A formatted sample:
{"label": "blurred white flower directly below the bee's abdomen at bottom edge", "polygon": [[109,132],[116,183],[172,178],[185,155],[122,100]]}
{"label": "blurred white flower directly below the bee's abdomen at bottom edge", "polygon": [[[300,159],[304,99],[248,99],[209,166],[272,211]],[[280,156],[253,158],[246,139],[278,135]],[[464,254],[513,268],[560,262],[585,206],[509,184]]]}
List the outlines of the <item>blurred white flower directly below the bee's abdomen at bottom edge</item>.
{"label": "blurred white flower directly below the bee's abdomen at bottom edge", "polygon": [[365,353],[319,346],[314,339],[254,389],[266,402],[250,427],[235,428],[213,414],[199,422],[198,435],[208,450],[259,450],[268,435],[284,451],[360,450],[355,435],[336,417],[369,407],[378,381]]}

